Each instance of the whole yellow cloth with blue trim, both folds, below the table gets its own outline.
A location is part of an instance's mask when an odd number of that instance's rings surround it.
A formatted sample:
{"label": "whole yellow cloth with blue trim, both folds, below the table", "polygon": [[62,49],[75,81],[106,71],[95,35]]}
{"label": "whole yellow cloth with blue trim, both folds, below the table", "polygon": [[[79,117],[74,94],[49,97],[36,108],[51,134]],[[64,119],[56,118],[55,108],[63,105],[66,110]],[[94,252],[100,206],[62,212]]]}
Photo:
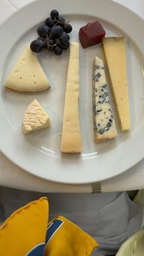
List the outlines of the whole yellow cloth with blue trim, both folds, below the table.
{"label": "whole yellow cloth with blue trim, both folds, below the table", "polygon": [[1,256],[89,256],[96,241],[68,219],[48,224],[48,199],[28,203],[0,227]]}

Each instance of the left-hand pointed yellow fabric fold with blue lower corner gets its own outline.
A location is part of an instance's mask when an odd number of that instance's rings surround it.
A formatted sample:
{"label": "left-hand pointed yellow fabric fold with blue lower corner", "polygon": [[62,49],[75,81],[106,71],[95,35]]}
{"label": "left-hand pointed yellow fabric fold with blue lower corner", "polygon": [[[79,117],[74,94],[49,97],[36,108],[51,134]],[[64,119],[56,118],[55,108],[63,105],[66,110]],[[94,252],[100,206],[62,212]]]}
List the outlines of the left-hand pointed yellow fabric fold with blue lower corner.
{"label": "left-hand pointed yellow fabric fold with blue lower corner", "polygon": [[0,255],[43,256],[48,213],[47,197],[15,211],[0,228]]}

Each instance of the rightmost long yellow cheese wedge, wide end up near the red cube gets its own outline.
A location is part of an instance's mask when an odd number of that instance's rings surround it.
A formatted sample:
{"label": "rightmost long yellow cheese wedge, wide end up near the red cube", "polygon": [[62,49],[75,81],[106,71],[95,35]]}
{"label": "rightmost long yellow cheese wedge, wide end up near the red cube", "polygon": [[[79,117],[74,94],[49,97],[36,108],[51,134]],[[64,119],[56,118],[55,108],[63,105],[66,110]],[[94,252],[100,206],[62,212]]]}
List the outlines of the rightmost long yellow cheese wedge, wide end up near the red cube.
{"label": "rightmost long yellow cheese wedge, wide end up near the red cube", "polygon": [[126,37],[103,38],[103,49],[118,121],[121,131],[126,131],[131,128],[126,65]]}

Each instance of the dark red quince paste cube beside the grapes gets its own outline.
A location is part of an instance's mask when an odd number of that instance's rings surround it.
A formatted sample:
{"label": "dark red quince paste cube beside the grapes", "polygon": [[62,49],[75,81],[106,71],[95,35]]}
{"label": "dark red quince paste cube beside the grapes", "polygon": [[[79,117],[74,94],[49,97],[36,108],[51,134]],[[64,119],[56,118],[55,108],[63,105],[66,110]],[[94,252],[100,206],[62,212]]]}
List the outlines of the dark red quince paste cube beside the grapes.
{"label": "dark red quince paste cube beside the grapes", "polygon": [[101,43],[105,35],[106,31],[104,31],[99,21],[89,22],[79,29],[79,41],[81,42],[82,48]]}

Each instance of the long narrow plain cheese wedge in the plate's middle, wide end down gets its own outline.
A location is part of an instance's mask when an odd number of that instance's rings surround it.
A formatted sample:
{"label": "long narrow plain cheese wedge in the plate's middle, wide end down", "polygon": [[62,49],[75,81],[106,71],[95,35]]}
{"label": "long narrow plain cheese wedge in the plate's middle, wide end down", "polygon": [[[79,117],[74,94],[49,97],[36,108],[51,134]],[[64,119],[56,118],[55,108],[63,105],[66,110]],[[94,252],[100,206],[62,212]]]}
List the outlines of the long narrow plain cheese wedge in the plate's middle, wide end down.
{"label": "long narrow plain cheese wedge in the plate's middle, wide end down", "polygon": [[61,152],[82,152],[82,138],[79,124],[79,44],[73,42],[70,46]]}

